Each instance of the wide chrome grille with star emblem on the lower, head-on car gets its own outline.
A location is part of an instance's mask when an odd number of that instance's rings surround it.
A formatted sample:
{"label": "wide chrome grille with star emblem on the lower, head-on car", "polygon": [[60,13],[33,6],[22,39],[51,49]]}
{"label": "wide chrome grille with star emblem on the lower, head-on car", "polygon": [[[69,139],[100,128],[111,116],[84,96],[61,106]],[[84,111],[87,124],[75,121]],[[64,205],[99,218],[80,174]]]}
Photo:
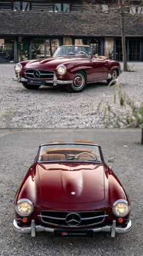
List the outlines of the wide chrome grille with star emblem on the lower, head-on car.
{"label": "wide chrome grille with star emblem on the lower, head-on car", "polygon": [[[91,226],[93,224],[99,224],[104,221],[105,214],[104,211],[99,212],[56,212],[56,211],[41,211],[41,215],[38,215],[42,222],[47,224],[52,224],[54,226]],[[76,218],[78,217],[78,218]],[[71,218],[71,221],[70,221]],[[72,221],[72,219],[75,219]],[[80,221],[79,221],[80,219]],[[77,221],[77,223],[76,223]]]}

